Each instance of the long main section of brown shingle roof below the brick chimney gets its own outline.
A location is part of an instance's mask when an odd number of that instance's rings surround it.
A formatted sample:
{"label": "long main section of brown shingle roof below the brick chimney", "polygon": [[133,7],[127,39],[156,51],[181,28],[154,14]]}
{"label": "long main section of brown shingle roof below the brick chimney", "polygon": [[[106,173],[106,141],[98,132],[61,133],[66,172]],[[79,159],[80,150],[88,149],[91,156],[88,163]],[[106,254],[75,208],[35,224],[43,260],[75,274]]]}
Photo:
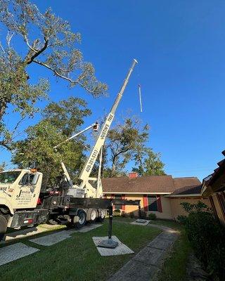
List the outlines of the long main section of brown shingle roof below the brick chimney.
{"label": "long main section of brown shingle roof below the brick chimney", "polygon": [[173,192],[172,176],[139,176],[137,178],[103,178],[103,192]]}

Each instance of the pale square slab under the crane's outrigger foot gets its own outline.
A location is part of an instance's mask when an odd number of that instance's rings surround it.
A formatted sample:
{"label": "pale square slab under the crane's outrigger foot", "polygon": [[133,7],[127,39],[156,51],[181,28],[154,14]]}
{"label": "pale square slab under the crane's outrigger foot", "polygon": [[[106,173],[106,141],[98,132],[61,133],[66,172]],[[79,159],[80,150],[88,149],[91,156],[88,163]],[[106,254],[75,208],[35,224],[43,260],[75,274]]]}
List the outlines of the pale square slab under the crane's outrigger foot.
{"label": "pale square slab under the crane's outrigger foot", "polygon": [[108,236],[92,237],[94,244],[97,246],[97,249],[99,251],[99,254],[101,254],[101,256],[120,256],[124,254],[134,254],[134,251],[132,251],[131,249],[129,249],[129,247],[127,247],[125,244],[120,242],[120,240],[116,236],[112,236],[112,238],[114,241],[117,241],[119,243],[119,245],[115,249],[98,247],[98,244],[103,240],[107,240]]}

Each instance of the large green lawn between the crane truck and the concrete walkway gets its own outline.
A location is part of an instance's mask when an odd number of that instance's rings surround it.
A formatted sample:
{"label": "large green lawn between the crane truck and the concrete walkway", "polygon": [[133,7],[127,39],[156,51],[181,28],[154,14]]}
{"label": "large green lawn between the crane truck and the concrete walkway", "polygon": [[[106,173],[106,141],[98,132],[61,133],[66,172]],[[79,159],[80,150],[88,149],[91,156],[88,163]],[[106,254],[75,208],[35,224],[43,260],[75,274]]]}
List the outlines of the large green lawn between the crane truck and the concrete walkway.
{"label": "large green lawn between the crane truck and the concrete walkway", "polygon": [[[71,238],[51,247],[23,239],[22,242],[40,249],[35,254],[1,266],[0,280],[108,280],[133,255],[102,257],[98,254],[93,236],[106,236],[108,220],[89,233],[74,233]],[[161,230],[113,222],[113,235],[135,251],[135,254],[153,240]],[[39,235],[39,236],[43,236]]]}

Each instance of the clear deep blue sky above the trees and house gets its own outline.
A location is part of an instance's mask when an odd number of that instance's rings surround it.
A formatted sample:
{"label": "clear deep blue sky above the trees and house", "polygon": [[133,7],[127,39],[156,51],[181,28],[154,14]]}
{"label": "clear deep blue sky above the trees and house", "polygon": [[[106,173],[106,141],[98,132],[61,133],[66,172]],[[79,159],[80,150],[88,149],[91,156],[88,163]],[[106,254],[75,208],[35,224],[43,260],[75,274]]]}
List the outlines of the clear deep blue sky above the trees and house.
{"label": "clear deep blue sky above the trees and house", "polygon": [[[139,65],[117,117],[131,109],[150,124],[148,145],[162,153],[167,174],[201,180],[212,173],[225,149],[225,1],[33,2],[41,11],[51,6],[74,32],[82,34],[84,58],[109,86],[108,98],[94,99],[78,87],[69,90],[65,82],[56,84],[51,72],[39,66],[30,69],[34,81],[49,77],[52,100],[70,95],[85,98],[93,112],[87,126],[108,112],[136,58]],[[1,151],[0,161],[4,159],[8,161],[9,155]]]}

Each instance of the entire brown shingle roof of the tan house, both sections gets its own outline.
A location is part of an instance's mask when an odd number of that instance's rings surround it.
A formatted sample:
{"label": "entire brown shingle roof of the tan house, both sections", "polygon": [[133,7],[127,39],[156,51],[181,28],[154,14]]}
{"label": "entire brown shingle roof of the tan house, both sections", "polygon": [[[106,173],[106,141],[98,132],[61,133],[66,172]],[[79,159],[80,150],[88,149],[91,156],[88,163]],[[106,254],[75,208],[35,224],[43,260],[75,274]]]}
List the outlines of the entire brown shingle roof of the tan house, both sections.
{"label": "entire brown shingle roof of the tan house, both sections", "polygon": [[[172,193],[175,190],[187,192],[185,194],[197,192],[200,185],[198,178],[172,178],[172,176],[139,176],[129,178],[123,176],[120,178],[103,178],[103,192],[110,193]],[[182,190],[182,188],[184,190]],[[188,191],[190,190],[190,191]],[[174,194],[174,193],[173,193]],[[184,193],[183,193],[184,194]]]}

